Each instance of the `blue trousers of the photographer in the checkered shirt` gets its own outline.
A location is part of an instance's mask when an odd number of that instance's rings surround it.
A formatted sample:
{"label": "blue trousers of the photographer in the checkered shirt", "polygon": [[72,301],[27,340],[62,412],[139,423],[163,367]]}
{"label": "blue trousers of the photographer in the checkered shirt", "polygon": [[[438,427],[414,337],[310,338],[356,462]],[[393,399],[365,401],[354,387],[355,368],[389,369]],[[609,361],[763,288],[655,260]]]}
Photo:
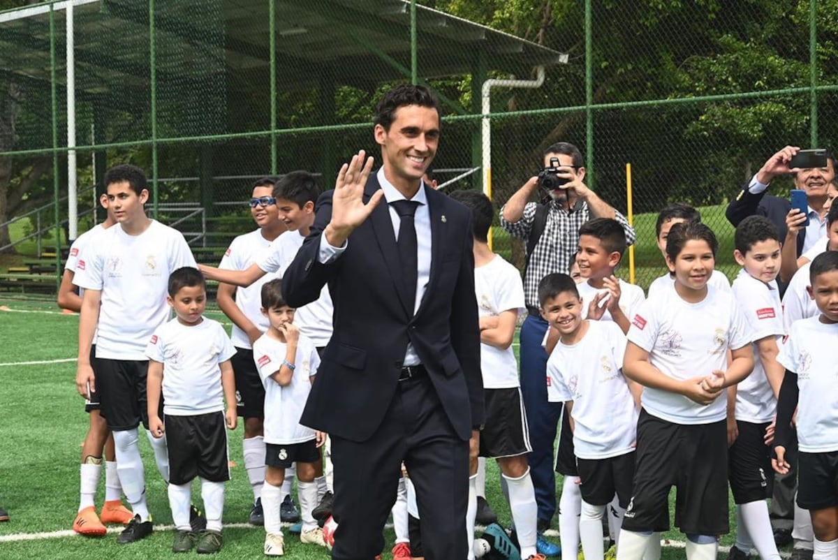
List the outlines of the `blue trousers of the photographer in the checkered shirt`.
{"label": "blue trousers of the photographer in the checkered shirt", "polygon": [[535,487],[538,519],[551,521],[556,513],[556,471],[553,447],[561,402],[547,401],[547,353],[541,342],[549,325],[540,315],[530,314],[520,331],[521,396],[524,397],[532,451],[527,456]]}

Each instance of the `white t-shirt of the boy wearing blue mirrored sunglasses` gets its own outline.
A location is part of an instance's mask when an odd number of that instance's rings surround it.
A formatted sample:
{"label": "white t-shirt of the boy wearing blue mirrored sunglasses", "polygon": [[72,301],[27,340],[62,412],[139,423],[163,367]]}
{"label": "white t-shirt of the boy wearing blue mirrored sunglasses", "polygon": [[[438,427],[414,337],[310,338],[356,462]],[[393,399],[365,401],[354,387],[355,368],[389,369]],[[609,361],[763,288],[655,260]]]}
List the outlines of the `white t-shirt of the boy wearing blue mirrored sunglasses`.
{"label": "white t-shirt of the boy wearing blue mirrored sunglasses", "polygon": [[[261,235],[261,229],[251,231],[236,237],[230,243],[218,267],[225,270],[246,270],[251,264],[255,264],[270,247],[271,241]],[[236,307],[241,309],[241,313],[247,319],[251,319],[251,323],[255,324],[262,333],[266,332],[269,323],[267,317],[261,313],[261,287],[278,277],[277,274],[268,272],[247,288],[241,286],[235,288]],[[247,333],[237,324],[233,324],[230,340],[236,348],[251,348],[251,340],[247,337]]]}

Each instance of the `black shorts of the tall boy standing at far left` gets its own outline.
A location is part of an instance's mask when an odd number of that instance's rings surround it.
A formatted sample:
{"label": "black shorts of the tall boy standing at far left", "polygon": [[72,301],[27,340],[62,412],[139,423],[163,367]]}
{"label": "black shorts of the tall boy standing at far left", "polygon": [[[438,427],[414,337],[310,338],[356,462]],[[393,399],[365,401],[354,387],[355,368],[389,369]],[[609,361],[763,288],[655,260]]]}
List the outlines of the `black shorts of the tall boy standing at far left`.
{"label": "black shorts of the tall boy standing at far left", "polygon": [[[113,432],[132,430],[142,423],[148,429],[147,360],[96,359],[96,389],[100,412]],[[163,396],[159,416],[163,417]]]}

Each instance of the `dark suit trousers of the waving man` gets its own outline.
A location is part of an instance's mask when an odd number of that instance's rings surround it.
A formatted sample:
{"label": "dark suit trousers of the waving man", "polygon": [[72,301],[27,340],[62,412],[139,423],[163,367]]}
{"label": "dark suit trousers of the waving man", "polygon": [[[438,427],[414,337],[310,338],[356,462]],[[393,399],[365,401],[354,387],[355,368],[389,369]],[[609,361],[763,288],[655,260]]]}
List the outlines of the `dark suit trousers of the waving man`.
{"label": "dark suit trousers of the waving man", "polygon": [[468,441],[454,432],[425,375],[399,382],[371,438],[332,439],[338,522],[332,558],[372,560],[382,552],[402,460],[416,486],[425,557],[467,557]]}

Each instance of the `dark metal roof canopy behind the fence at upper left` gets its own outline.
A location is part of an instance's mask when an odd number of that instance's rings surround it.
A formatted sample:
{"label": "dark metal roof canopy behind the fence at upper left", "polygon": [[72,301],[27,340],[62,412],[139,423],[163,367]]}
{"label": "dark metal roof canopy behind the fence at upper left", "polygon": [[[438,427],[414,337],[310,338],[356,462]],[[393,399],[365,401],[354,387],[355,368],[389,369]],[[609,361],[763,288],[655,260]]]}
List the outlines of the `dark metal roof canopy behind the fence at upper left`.
{"label": "dark metal roof canopy behind the fence at upper left", "polygon": [[[147,105],[151,75],[148,4],[137,0],[68,0],[75,6],[77,95],[99,106],[119,102],[119,91]],[[56,11],[67,2],[55,3]],[[180,84],[218,80],[232,96],[262,90],[270,74],[268,3],[216,0],[211,21],[207,0],[155,4],[158,80]],[[410,78],[409,0],[276,0],[277,89],[323,86],[368,89],[385,80]],[[56,37],[65,49],[64,18]],[[4,74],[49,82],[49,6],[0,13],[0,68]],[[17,22],[13,20],[18,20]],[[208,29],[215,23],[222,29]],[[526,76],[534,66],[565,63],[567,55],[477,23],[416,5],[417,57],[422,79],[499,70]],[[119,44],[113,38],[119,38]],[[83,39],[82,39],[83,38]],[[264,78],[262,77],[264,76]],[[475,76],[482,80],[484,75]],[[255,79],[257,78],[257,79]],[[65,75],[59,71],[64,85]],[[217,83],[217,82],[216,82]]]}

